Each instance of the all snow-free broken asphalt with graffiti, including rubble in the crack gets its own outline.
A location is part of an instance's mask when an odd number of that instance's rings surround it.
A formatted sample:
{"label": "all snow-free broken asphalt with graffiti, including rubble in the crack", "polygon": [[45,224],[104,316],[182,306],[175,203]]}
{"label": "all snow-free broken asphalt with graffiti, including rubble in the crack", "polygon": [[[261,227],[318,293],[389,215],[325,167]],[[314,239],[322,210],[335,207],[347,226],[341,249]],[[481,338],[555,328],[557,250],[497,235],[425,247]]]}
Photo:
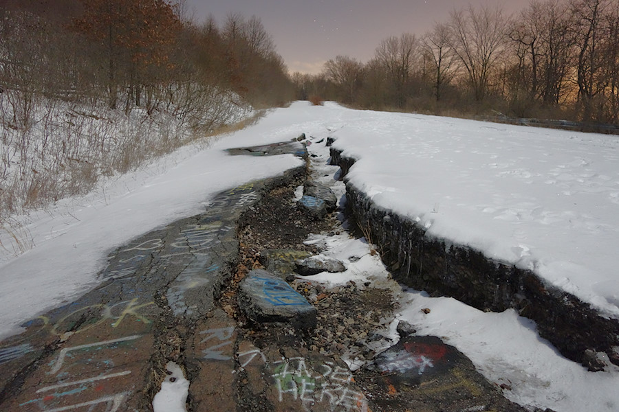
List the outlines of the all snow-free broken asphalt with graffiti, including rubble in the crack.
{"label": "all snow-free broken asphalt with graffiti, including rubble in the crack", "polygon": [[344,231],[296,205],[313,170],[235,187],[111,253],[99,286],[0,343],[0,410],[149,411],[172,362],[187,411],[523,411],[440,339],[391,341],[384,284],[292,272],[321,252],[310,233]]}

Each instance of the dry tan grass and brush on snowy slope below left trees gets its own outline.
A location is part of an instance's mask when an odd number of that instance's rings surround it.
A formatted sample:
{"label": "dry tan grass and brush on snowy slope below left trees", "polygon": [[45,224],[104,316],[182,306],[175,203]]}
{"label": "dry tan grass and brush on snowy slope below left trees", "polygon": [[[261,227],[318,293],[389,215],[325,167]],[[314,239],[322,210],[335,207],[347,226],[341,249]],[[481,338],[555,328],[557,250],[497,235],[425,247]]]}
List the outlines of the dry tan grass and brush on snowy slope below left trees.
{"label": "dry tan grass and brush on snowy slope below left trees", "polygon": [[[87,194],[101,176],[135,170],[197,139],[208,146],[265,113],[248,117],[247,106],[230,93],[208,92],[199,101],[202,112],[194,104],[182,113],[171,108],[151,115],[140,108],[127,114],[96,102],[0,93],[0,229],[5,232],[0,248],[20,253],[32,243],[27,232],[10,224],[10,216]],[[28,101],[28,113],[20,99]]]}

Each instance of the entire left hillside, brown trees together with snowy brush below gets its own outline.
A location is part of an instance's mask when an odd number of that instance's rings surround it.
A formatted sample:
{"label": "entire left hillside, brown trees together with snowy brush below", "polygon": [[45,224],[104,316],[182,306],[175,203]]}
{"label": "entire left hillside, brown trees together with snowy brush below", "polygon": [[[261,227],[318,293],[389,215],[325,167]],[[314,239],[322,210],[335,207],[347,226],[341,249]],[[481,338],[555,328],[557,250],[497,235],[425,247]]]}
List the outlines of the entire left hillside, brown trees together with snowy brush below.
{"label": "entire left hillside, brown trees together with snowy brush below", "polygon": [[186,14],[167,0],[0,0],[0,231],[291,100],[259,19]]}

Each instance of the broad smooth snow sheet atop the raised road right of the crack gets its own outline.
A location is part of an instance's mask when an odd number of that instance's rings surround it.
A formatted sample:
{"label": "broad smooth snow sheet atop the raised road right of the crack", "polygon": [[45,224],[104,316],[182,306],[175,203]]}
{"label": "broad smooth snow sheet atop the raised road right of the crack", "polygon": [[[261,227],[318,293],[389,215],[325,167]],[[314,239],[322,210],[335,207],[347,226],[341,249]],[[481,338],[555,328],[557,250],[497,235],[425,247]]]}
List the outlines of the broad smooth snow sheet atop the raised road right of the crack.
{"label": "broad smooth snow sheet atop the raised road right of the crack", "polygon": [[619,137],[372,112],[333,136],[376,205],[619,319]]}

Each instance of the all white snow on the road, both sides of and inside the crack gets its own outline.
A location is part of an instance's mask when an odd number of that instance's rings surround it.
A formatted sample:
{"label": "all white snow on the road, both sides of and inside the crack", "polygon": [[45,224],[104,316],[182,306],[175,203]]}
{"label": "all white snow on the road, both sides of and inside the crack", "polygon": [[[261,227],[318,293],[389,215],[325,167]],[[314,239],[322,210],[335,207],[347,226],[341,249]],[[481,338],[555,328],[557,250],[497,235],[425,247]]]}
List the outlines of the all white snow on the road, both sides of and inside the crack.
{"label": "all white snow on the road, both sides of and inside the crack", "polygon": [[[182,148],[88,196],[15,216],[35,247],[0,262],[0,338],[94,286],[114,247],[199,213],[221,190],[300,164],[292,155],[232,157],[224,148],[301,132],[314,141],[336,137],[358,159],[349,179],[379,205],[418,219],[428,233],[533,268],[619,318],[619,137],[297,102],[210,147]],[[0,236],[10,242],[8,233]],[[382,282],[387,273],[368,257],[342,279],[356,277]],[[559,412],[619,409],[619,371],[594,374],[565,360],[512,311],[483,313],[415,291],[402,291],[400,301],[401,319],[443,336],[492,382],[508,383],[512,400]]]}

